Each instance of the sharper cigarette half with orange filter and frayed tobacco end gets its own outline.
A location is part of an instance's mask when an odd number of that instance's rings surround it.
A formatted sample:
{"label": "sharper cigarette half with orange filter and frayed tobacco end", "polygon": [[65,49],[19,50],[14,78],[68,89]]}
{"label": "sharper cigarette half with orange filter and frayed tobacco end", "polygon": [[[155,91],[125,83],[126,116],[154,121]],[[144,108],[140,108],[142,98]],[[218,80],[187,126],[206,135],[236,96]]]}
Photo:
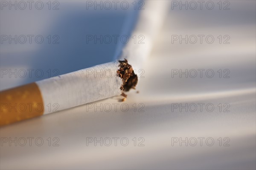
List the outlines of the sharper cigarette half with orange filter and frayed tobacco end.
{"label": "sharper cigarette half with orange filter and frayed tobacco end", "polygon": [[137,80],[125,60],[5,90],[0,95],[0,125],[121,95]]}

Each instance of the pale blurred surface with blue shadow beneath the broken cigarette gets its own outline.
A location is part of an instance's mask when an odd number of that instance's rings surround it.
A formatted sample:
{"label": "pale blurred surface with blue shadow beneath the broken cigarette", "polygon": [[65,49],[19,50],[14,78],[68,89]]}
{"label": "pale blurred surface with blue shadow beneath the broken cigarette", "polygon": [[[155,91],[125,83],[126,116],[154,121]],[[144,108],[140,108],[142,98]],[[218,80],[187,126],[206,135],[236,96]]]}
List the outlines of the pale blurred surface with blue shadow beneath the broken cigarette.
{"label": "pale blurred surface with blue shadow beneath the broken cigarette", "polygon": [[[217,1],[214,2],[216,5]],[[123,104],[119,103],[121,97],[114,97],[93,103],[93,106],[111,104],[111,112],[104,109],[95,112],[95,107],[90,109],[92,104],[87,104],[1,127],[1,137],[41,137],[44,144],[41,147],[35,143],[24,147],[3,144],[0,168],[255,169],[256,3],[249,0],[229,2],[230,10],[218,10],[217,6],[213,10],[172,10],[170,7],[154,49],[144,63],[145,78],[140,79],[139,93],[135,90],[128,93],[127,112],[120,107]],[[83,38],[86,34],[120,34],[125,18],[121,16],[125,16],[125,12],[102,10],[90,13],[83,10],[86,8],[83,4],[82,1],[61,1],[61,10],[57,13],[1,10],[1,35],[44,33],[62,37],[59,46],[1,44],[1,69],[57,68],[63,74],[111,61],[115,44],[82,46]],[[95,27],[100,24],[108,31]],[[213,35],[215,41],[212,44],[205,41],[202,44],[172,43],[172,35]],[[230,44],[219,44],[218,35],[229,35]],[[180,78],[175,75],[172,78],[172,69],[212,69],[216,76]],[[219,69],[229,69],[230,78],[219,78]],[[6,89],[37,80],[5,77],[0,83],[1,89]],[[117,104],[117,111],[113,103]],[[211,103],[215,108],[212,112],[205,107],[195,112],[172,111],[174,103],[183,106],[186,103]],[[230,112],[220,112],[217,106],[220,103],[229,104]],[[133,104],[137,105],[136,112]],[[139,104],[145,106],[142,108],[144,112],[138,112],[142,106]],[[46,140],[49,137],[59,138],[59,146],[49,147]],[[115,146],[113,140],[111,146],[100,146],[99,143],[87,146],[88,137],[98,140],[101,137],[126,137],[129,144],[122,146],[118,141]],[[134,137],[137,138],[136,146],[132,141]],[[140,137],[145,139],[145,146],[137,146]],[[213,146],[207,146],[205,141],[203,146],[186,146],[184,143],[172,146],[173,137],[211,137],[215,143]],[[230,146],[222,143],[220,147],[217,140],[220,137],[230,138]]]}

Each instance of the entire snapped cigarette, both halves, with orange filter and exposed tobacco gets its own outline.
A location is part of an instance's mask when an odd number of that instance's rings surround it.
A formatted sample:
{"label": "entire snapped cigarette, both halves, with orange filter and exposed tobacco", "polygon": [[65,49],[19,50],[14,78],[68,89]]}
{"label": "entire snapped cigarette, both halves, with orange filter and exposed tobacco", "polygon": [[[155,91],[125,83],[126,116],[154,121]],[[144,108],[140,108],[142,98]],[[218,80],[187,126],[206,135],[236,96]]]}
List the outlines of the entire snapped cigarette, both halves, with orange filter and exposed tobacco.
{"label": "entire snapped cigarette, both halves, with orange filter and exposed tobacco", "polygon": [[[164,9],[167,9],[164,1],[145,1],[145,9],[140,12],[133,31],[134,35],[143,35],[145,43],[129,41],[117,60],[0,92],[0,126],[135,89],[138,77],[134,67],[142,68],[163,21]],[[125,101],[126,95],[122,96]]]}

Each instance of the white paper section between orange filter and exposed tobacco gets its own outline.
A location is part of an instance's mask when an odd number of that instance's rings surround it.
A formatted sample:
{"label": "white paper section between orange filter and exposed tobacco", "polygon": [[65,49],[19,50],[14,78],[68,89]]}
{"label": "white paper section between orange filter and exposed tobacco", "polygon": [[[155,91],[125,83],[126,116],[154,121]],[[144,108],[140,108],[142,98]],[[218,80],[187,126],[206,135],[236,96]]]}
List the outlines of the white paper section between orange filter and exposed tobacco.
{"label": "white paper section between orange filter and exposed tobacco", "polygon": [[[111,62],[36,82],[44,108],[58,104],[58,110],[63,110],[120,95],[123,83],[117,76],[118,69],[119,62]],[[50,112],[44,110],[44,114]]]}

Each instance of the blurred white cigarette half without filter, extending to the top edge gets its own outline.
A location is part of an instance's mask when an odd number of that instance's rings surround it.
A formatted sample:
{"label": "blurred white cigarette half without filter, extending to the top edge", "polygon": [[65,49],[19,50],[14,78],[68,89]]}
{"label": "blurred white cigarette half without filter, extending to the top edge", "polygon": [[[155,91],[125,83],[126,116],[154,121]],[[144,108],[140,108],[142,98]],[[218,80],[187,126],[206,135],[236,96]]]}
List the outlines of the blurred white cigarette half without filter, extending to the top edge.
{"label": "blurred white cigarette half without filter, extending to the top edge", "polygon": [[143,69],[143,63],[151,52],[153,40],[159,32],[169,9],[169,0],[145,0],[132,36],[141,41],[129,41],[122,49],[119,60],[126,58],[136,71]]}

